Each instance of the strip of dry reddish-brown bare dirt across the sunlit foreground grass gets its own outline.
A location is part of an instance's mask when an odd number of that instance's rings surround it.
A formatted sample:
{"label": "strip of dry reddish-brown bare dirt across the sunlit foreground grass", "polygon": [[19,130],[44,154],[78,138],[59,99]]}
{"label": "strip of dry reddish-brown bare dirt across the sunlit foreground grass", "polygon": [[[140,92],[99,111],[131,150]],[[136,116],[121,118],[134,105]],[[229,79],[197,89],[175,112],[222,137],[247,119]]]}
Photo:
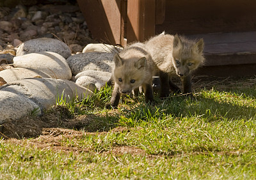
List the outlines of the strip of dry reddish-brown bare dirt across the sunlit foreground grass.
{"label": "strip of dry reddish-brown bare dirt across the sunlit foreground grass", "polygon": [[[123,131],[123,128],[115,128],[113,131]],[[124,130],[126,131],[126,130]],[[51,149],[53,151],[58,151],[62,153],[94,153],[97,152],[93,151],[90,148],[79,147],[72,144],[63,143],[66,142],[67,139],[72,139],[72,141],[79,140],[83,138],[84,135],[94,134],[94,135],[102,135],[107,133],[104,132],[95,132],[95,133],[88,133],[84,131],[76,131],[76,130],[68,130],[64,128],[43,128],[42,135],[35,139],[7,139],[5,140],[6,143],[11,144],[19,144],[20,146],[24,147],[35,147],[40,149]],[[74,140],[75,139],[75,140]],[[123,154],[136,154],[136,155],[146,155],[147,153],[138,147],[128,147],[128,146],[116,146],[109,149],[109,151],[101,151],[99,153],[102,154],[115,154],[115,155],[123,155]]]}

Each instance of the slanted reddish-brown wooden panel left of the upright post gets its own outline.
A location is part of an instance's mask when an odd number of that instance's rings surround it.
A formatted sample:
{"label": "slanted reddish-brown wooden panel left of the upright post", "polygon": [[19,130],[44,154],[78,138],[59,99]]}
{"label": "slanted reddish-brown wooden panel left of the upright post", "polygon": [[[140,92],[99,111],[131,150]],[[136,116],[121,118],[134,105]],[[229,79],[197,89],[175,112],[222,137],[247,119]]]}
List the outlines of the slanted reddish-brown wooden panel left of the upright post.
{"label": "slanted reddish-brown wooden panel left of the upright post", "polygon": [[109,44],[122,44],[124,0],[77,0],[93,38]]}

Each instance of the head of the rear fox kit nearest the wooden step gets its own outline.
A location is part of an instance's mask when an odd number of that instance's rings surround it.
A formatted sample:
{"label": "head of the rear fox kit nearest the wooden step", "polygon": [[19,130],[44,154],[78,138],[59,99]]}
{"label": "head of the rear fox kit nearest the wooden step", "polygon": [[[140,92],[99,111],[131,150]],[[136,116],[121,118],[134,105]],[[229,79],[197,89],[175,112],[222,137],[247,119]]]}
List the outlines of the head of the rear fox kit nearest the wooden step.
{"label": "head of the rear fox kit nearest the wooden step", "polygon": [[173,64],[177,75],[186,76],[204,63],[204,40],[187,40],[177,34],[173,38]]}

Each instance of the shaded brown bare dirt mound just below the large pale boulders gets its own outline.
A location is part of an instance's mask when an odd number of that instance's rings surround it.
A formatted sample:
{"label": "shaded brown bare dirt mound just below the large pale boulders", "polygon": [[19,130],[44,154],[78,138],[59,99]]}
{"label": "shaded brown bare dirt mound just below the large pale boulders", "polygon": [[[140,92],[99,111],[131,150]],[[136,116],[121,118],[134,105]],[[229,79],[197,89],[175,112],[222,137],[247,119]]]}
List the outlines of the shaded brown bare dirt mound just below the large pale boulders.
{"label": "shaded brown bare dirt mound just below the large pale boulders", "polygon": [[93,129],[93,121],[95,120],[92,116],[72,117],[66,107],[55,106],[51,112],[47,112],[41,117],[26,116],[18,120],[6,121],[1,125],[0,138],[24,139],[47,134],[56,136],[60,133],[66,133],[63,130],[60,131],[59,128],[67,131],[100,131]]}

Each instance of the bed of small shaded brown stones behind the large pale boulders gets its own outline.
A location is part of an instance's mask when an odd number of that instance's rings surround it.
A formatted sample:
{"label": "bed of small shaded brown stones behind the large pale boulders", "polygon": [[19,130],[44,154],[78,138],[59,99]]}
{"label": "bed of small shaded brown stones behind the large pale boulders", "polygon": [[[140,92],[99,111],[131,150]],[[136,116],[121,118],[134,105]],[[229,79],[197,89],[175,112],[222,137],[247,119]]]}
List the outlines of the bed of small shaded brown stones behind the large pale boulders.
{"label": "bed of small shaded brown stones behind the large pale boulders", "polygon": [[[10,1],[10,0],[8,0]],[[84,21],[79,6],[74,3],[17,4],[15,8],[0,6],[0,50],[13,49],[33,38],[58,38],[72,53],[95,41]]]}

